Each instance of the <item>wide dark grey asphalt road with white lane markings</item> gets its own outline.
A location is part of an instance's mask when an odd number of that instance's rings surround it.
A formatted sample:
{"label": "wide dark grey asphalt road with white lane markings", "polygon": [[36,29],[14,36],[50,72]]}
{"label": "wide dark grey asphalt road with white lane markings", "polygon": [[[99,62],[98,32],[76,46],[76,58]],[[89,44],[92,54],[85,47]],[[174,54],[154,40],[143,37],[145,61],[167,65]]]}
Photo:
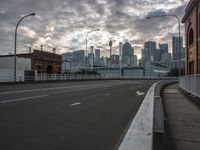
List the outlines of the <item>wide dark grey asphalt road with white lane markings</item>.
{"label": "wide dark grey asphalt road with white lane markings", "polygon": [[116,149],[152,83],[0,85],[0,149]]}

